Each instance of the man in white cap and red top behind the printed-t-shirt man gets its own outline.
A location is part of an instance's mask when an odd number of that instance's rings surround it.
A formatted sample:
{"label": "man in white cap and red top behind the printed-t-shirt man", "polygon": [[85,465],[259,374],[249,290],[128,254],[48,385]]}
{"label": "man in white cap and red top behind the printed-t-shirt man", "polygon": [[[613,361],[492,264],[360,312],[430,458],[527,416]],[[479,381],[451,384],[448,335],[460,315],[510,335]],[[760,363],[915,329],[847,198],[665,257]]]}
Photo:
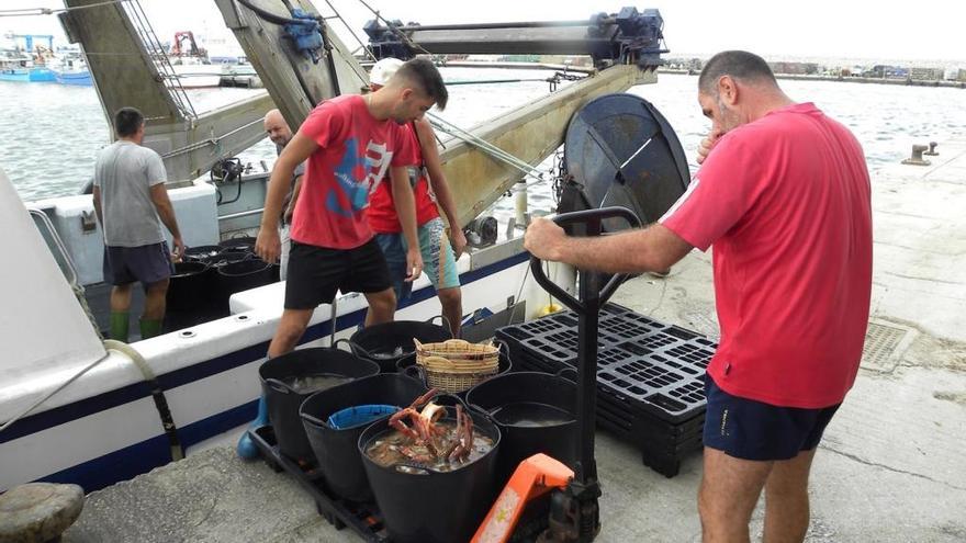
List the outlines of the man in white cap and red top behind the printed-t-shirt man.
{"label": "man in white cap and red top behind the printed-t-shirt man", "polygon": [[[369,73],[369,88],[373,92],[382,89],[402,65],[403,61],[397,58],[383,58],[375,63]],[[450,332],[458,338],[463,307],[457,259],[467,247],[467,238],[460,228],[457,206],[442,172],[433,126],[424,117],[408,123],[405,128],[416,148],[417,166],[409,168],[409,182],[416,199],[416,225],[424,269],[436,289]],[[440,207],[450,224],[449,236],[439,216]],[[413,292],[413,281],[406,279],[408,244],[396,215],[392,188],[385,183],[380,185],[366,212],[369,225],[375,231],[375,241],[385,254],[396,301],[402,302]]]}

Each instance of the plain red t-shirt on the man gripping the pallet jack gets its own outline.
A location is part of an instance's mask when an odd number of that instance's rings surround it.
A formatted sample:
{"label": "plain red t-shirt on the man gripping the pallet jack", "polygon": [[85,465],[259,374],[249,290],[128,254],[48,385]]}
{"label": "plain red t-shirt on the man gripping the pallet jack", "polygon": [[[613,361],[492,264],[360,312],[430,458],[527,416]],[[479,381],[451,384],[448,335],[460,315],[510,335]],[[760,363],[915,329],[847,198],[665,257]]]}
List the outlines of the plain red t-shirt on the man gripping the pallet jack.
{"label": "plain red t-shirt on the man gripping the pallet jack", "polygon": [[721,338],[708,373],[734,396],[821,408],[852,387],[868,321],[868,170],[811,103],[726,134],[661,224],[714,244]]}

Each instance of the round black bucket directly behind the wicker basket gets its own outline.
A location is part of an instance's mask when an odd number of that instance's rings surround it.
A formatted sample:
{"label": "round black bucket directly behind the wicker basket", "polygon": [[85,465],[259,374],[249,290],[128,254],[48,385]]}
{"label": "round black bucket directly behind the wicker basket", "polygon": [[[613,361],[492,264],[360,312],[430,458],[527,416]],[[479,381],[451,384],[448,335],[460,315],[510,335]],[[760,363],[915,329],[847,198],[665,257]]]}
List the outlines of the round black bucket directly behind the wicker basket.
{"label": "round black bucket directly behind the wicker basket", "polygon": [[413,339],[422,343],[436,343],[452,339],[452,335],[433,323],[396,320],[367,326],[349,338],[349,346],[357,357],[379,364],[382,373],[393,373],[400,360],[408,357],[415,362],[416,344]]}

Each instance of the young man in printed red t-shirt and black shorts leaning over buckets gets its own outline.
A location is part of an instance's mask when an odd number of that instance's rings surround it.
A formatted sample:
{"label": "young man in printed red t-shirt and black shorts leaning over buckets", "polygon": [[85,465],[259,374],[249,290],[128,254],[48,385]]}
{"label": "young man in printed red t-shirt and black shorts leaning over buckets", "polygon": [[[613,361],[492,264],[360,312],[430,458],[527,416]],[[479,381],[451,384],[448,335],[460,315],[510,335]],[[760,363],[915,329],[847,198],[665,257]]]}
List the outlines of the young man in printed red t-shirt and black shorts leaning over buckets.
{"label": "young man in printed red t-shirt and black shorts leaning over buckets", "polygon": [[[413,59],[378,93],[341,95],[317,105],[282,150],[272,169],[256,241],[256,252],[268,262],[281,252],[278,220],[292,173],[305,160],[308,168],[292,217],[285,305],[269,358],[294,349],[313,310],[330,304],[338,290],[366,295],[371,309],[367,324],[392,320],[396,299],[364,210],[389,172],[400,223],[413,248],[406,269],[418,276],[423,260],[406,176],[415,151],[402,125],[422,117],[434,104],[446,106],[447,99],[433,63]],[[262,406],[263,401],[259,418]],[[238,445],[242,456],[255,455],[248,440],[243,438]]]}

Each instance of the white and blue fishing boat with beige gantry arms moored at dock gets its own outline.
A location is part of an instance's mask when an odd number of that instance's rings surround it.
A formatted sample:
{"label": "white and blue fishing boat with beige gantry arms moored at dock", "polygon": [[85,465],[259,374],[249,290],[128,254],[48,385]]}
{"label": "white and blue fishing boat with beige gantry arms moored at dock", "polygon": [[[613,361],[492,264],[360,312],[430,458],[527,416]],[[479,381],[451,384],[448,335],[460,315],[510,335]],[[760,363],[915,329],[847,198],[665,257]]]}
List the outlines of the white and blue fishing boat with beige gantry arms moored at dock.
{"label": "white and blue fishing boat with beige gantry arms moored at dock", "polygon": [[[66,2],[68,8],[87,3]],[[87,61],[104,111],[134,104],[151,120],[144,145],[165,159],[169,194],[189,246],[250,235],[259,224],[268,172],[233,170],[225,165],[263,137],[266,111],[276,105],[297,126],[308,113],[307,104],[340,92],[358,92],[368,81],[357,59],[332,34],[326,38],[333,52],[327,57],[321,48],[297,50],[283,37],[284,25],[263,16],[262,9],[234,2],[220,3],[220,8],[268,92],[202,115],[194,113],[180,89],[166,83],[175,73],[156,61],[158,42],[144,24],[145,18],[138,16],[137,2],[70,11],[64,18],[68,35],[83,50],[102,53],[88,56]],[[281,3],[277,8],[283,9]],[[448,36],[419,36],[420,53],[445,54],[463,47],[470,53],[501,54],[529,46],[541,53],[591,55],[597,60],[593,75],[445,140],[441,156],[459,195],[460,226],[517,184],[521,168],[526,171],[528,165],[543,161],[558,149],[571,115],[582,105],[595,97],[656,82],[663,20],[654,10],[627,9],[619,15],[584,22],[525,26],[535,27],[539,32],[528,35],[509,23],[497,38],[471,36],[462,46],[453,45]],[[373,49],[400,57],[417,53],[405,50],[406,44],[398,43],[390,29],[373,25],[370,31]],[[462,32],[492,35],[493,29],[468,26]],[[554,32],[558,37],[549,39]],[[199,179],[212,169],[218,173]],[[683,183],[679,177],[677,183]],[[105,329],[109,287],[102,283],[103,242],[90,196],[30,202],[26,207],[34,224],[29,224],[12,188],[4,186],[9,207],[2,213],[4,227],[42,233],[18,236],[19,244],[30,246],[23,249],[27,257],[19,270],[24,278],[44,279],[24,279],[23,284],[31,287],[4,292],[4,299],[11,301],[8,307],[24,306],[25,313],[16,319],[24,326],[4,327],[2,332],[7,341],[16,338],[23,349],[11,355],[12,364],[0,369],[0,412],[5,419],[0,431],[0,489],[52,480],[96,490],[167,464],[183,449],[252,419],[259,396],[257,369],[280,317],[282,283],[233,295],[231,312],[221,318],[133,342],[130,349],[105,348],[97,329]],[[490,239],[458,262],[464,307],[492,315],[491,327],[533,317],[546,305],[546,294],[529,275],[520,234],[501,227],[499,239]],[[553,265],[549,273],[574,292],[572,269]],[[44,302],[35,303],[35,296]],[[137,313],[136,304],[132,314]],[[348,337],[364,313],[364,298],[358,294],[319,306],[302,347]],[[426,320],[439,313],[424,276],[396,317]],[[56,319],[47,318],[54,314]],[[26,326],[42,320],[48,326]],[[45,341],[52,335],[57,341]],[[88,366],[92,367],[81,373]],[[61,391],[75,375],[77,380]],[[146,378],[158,383],[170,406],[170,423],[164,427]],[[175,441],[178,445],[172,449]]]}

